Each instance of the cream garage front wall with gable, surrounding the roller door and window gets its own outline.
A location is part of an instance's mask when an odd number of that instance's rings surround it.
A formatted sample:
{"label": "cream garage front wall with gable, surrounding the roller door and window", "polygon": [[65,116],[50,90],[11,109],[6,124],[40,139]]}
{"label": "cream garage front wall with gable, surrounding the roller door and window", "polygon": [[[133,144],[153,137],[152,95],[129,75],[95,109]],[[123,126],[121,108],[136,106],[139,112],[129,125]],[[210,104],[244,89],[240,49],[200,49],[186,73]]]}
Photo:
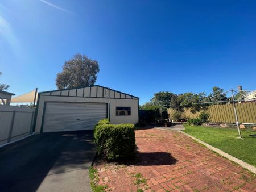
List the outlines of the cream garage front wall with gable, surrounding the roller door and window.
{"label": "cream garage front wall with gable, surrounding the roller door and window", "polygon": [[[106,103],[108,104],[108,118],[113,124],[137,123],[138,97],[121,93],[102,86],[80,87],[77,89],[46,91],[39,93],[38,111],[36,117],[35,133],[40,133],[43,122],[44,106],[46,102],[84,102],[84,103]],[[116,116],[115,107],[131,107],[131,115]],[[92,127],[93,129],[93,127]]]}

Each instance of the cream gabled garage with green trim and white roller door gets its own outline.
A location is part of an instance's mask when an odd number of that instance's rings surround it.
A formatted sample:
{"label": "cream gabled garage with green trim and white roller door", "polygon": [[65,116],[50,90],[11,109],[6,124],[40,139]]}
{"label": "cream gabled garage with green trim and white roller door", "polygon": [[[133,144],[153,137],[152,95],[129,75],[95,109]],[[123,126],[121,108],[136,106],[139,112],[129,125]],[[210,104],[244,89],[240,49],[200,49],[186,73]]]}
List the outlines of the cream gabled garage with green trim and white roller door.
{"label": "cream gabled garage with green trim and white roller door", "polygon": [[92,130],[100,119],[137,123],[139,98],[100,85],[39,93],[35,133]]}

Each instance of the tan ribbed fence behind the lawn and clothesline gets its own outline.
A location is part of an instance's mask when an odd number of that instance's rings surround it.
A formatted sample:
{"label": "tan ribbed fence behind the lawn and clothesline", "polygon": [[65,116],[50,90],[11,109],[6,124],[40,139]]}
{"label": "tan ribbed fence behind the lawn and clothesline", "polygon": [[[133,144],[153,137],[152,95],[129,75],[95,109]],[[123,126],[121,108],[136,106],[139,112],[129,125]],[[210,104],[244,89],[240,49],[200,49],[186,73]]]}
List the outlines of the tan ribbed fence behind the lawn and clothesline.
{"label": "tan ribbed fence behind the lawn and clothesline", "polygon": [[[233,105],[236,105],[237,108],[238,122],[256,123],[256,102],[211,105],[207,109],[207,112],[210,114],[210,122],[236,123]],[[173,111],[173,109],[168,108],[168,115],[170,115]],[[199,114],[200,112],[192,114],[190,109],[185,109],[183,112],[183,117],[186,119],[193,119],[197,118]]]}

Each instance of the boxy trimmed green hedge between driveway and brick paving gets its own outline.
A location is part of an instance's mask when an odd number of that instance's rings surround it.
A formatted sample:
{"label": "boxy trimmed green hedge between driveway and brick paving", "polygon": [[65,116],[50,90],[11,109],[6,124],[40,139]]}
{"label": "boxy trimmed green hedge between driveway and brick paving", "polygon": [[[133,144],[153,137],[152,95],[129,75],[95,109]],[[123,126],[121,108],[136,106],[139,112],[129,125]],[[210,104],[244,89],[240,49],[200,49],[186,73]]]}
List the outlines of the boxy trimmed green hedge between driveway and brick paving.
{"label": "boxy trimmed green hedge between driveway and brick paving", "polygon": [[134,124],[98,124],[94,130],[98,154],[107,160],[117,160],[134,155]]}

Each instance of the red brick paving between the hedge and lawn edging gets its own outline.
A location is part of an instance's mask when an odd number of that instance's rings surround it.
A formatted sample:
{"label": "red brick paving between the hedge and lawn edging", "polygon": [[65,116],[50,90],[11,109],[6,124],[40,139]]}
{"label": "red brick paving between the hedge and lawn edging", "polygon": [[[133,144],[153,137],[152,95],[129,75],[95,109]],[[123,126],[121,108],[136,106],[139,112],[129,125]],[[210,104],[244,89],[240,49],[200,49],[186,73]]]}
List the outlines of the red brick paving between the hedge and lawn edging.
{"label": "red brick paving between the hedge and lawn edging", "polygon": [[137,130],[136,144],[129,164],[96,160],[99,185],[112,191],[256,191],[255,175],[180,132]]}

